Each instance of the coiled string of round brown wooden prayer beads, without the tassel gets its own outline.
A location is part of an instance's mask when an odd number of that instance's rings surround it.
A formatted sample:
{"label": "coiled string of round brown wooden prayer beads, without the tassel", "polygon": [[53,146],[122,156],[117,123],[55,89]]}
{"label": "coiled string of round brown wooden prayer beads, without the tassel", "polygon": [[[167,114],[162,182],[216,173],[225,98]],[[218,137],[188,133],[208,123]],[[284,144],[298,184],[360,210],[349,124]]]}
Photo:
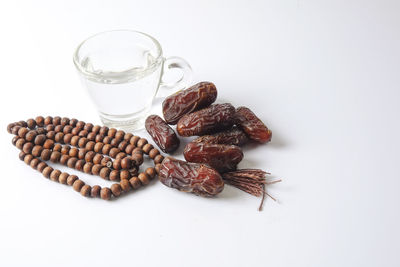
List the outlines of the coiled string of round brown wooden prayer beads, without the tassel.
{"label": "coiled string of round brown wooden prayer beads, without the tassel", "polygon": [[[85,197],[109,200],[147,185],[164,159],[145,138],[77,119],[39,116],[11,123],[7,131],[15,135],[12,143],[21,150],[21,160],[44,177],[70,185]],[[154,161],[155,167],[138,173],[143,154]],[[45,162],[48,160],[116,183],[103,188],[87,185],[76,175],[53,169]]]}

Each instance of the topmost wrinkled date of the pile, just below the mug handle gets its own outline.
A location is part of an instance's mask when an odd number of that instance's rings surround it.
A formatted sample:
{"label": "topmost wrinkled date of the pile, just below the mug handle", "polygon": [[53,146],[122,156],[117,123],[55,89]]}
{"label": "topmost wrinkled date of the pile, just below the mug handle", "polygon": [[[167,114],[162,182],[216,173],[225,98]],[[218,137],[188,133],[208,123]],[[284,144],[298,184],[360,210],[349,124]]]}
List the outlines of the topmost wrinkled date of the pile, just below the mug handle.
{"label": "topmost wrinkled date of the pile, just below the mug handle", "polygon": [[217,88],[213,83],[200,82],[177,92],[162,103],[164,119],[168,124],[176,124],[185,114],[208,107],[217,99]]}

